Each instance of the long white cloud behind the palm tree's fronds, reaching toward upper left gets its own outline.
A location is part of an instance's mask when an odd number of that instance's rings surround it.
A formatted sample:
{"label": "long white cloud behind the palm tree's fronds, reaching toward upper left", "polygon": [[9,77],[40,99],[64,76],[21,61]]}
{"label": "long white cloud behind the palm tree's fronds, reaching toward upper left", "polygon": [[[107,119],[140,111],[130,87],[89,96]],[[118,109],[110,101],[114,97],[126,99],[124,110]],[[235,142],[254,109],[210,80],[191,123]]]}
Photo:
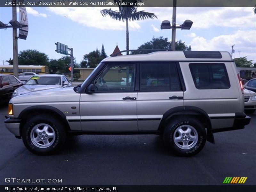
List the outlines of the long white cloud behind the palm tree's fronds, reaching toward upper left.
{"label": "long white cloud behind the palm tree's fronds, reaching toward upper left", "polygon": [[[125,30],[123,21],[113,20],[109,16],[103,17],[100,13],[102,7],[48,7],[47,10],[56,15],[65,16],[74,22],[87,27],[99,29]],[[104,9],[109,9],[104,7]],[[115,8],[114,8],[115,10]],[[140,25],[137,21],[129,21],[129,30],[138,30]]]}

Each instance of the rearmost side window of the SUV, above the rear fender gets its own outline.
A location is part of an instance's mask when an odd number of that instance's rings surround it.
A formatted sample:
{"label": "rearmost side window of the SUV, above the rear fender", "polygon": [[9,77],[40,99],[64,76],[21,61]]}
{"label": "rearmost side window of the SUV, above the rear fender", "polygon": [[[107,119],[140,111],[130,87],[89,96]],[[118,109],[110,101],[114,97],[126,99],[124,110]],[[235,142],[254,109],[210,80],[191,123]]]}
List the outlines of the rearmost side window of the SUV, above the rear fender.
{"label": "rearmost side window of the SUV, above the rear fender", "polygon": [[197,89],[230,88],[224,63],[190,63],[189,68]]}

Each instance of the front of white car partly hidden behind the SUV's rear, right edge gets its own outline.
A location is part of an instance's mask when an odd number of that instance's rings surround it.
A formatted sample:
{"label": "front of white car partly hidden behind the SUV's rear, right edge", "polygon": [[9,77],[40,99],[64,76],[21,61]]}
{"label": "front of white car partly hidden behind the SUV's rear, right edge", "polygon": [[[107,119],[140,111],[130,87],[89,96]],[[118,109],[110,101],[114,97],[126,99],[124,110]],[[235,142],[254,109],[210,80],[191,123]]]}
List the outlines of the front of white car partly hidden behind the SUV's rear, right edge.
{"label": "front of white car partly hidden behind the SUV's rear, right edge", "polygon": [[248,89],[244,89],[244,111],[246,113],[254,113],[256,110],[256,93]]}

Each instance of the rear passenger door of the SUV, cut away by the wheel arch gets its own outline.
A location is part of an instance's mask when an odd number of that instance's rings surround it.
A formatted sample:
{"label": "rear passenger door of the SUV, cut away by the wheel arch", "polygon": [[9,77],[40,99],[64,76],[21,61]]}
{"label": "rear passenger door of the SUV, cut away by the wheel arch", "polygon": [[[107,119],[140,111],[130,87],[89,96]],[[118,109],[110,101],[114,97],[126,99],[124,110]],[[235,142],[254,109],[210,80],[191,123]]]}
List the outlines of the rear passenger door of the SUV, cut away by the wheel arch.
{"label": "rear passenger door of the SUV, cut away by the wheel arch", "polygon": [[140,91],[137,101],[139,130],[157,130],[166,111],[183,107],[183,97],[174,62],[140,63]]}

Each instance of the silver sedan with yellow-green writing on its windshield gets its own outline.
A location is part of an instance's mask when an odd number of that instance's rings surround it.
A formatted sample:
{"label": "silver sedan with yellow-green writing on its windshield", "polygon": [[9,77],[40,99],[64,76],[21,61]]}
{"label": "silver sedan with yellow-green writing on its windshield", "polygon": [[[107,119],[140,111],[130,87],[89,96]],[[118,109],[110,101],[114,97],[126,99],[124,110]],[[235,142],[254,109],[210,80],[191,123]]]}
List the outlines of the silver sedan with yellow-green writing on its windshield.
{"label": "silver sedan with yellow-green writing on its windshield", "polygon": [[23,86],[17,88],[13,92],[12,97],[28,92],[70,86],[72,86],[71,82],[69,82],[68,78],[64,75],[36,75],[32,76]]}

